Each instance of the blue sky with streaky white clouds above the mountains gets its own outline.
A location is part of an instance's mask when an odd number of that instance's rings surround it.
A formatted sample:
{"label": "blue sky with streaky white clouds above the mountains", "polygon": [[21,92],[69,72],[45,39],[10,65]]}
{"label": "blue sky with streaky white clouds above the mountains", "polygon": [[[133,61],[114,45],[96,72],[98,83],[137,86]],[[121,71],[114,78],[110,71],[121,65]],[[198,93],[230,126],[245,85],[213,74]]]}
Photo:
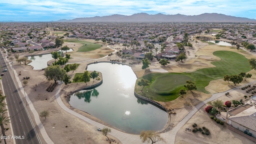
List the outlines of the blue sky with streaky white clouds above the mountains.
{"label": "blue sky with streaky white clouds above the mountains", "polygon": [[255,0],[1,0],[0,21],[45,22],[145,12],[219,13],[256,19]]}

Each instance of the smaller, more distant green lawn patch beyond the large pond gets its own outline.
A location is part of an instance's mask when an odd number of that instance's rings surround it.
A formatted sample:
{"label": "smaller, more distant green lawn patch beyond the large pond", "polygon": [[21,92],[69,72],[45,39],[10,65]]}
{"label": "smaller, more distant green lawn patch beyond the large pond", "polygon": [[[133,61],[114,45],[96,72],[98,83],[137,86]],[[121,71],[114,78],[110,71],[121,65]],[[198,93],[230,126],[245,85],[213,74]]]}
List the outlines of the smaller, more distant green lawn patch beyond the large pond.
{"label": "smaller, more distant green lawn patch beyond the large pond", "polygon": [[82,44],[83,46],[78,48],[77,52],[89,52],[89,51],[96,50],[101,47],[100,44],[87,42],[87,41],[83,41],[83,40],[78,40],[78,39],[64,40],[64,41],[65,42],[76,42],[76,43]]}

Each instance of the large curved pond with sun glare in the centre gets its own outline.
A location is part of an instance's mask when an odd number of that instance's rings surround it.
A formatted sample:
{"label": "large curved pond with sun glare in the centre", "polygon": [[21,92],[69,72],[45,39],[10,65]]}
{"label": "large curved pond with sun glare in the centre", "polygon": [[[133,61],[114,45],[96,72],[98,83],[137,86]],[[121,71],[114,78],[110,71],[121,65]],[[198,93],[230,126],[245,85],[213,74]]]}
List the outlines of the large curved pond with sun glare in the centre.
{"label": "large curved pond with sun glare in the centre", "polygon": [[164,110],[134,96],[136,75],[121,64],[97,63],[87,70],[102,72],[102,85],[70,96],[70,105],[132,134],[162,130],[168,122]]}

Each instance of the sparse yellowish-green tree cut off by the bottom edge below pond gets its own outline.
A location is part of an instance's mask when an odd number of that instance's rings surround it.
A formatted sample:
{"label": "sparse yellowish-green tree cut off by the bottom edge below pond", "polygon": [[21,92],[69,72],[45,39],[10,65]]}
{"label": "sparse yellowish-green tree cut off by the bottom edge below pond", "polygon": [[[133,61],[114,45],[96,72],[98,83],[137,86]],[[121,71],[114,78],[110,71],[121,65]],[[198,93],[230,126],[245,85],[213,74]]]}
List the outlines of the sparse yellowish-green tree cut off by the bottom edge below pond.
{"label": "sparse yellowish-green tree cut off by the bottom edge below pond", "polygon": [[156,142],[164,142],[164,139],[153,130],[140,132],[140,139],[142,140],[142,143],[150,142],[151,144],[154,144]]}

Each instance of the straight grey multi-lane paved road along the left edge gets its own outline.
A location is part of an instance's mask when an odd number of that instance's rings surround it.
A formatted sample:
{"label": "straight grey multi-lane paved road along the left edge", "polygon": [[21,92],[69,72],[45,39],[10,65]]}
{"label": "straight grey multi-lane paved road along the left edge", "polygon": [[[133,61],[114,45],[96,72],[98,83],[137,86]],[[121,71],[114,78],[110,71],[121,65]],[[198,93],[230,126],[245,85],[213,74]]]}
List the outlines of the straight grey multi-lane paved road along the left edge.
{"label": "straight grey multi-lane paved road along the left edge", "polygon": [[9,71],[4,72],[7,68],[3,56],[0,54],[0,64],[2,68],[0,71],[4,73],[2,76],[2,85],[4,87],[4,94],[6,95],[6,102],[12,122],[12,129],[14,136],[20,136],[16,139],[16,144],[40,144],[40,139],[36,134],[24,104],[20,98],[20,94],[12,80]]}

